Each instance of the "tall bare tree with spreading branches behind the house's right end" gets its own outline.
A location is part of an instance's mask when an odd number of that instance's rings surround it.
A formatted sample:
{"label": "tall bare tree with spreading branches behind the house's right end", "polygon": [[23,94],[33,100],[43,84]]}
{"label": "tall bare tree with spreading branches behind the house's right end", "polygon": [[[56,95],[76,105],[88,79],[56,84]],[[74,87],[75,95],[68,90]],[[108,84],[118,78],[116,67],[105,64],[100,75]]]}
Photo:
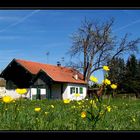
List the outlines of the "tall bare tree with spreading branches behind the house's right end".
{"label": "tall bare tree with spreading branches behind the house's right end", "polygon": [[128,41],[128,34],[126,34],[118,41],[112,34],[113,23],[113,18],[104,23],[85,18],[82,26],[72,35],[73,44],[68,53],[71,57],[82,56],[83,61],[82,64],[80,62],[79,68],[82,66],[86,81],[89,81],[93,72],[101,69],[102,65],[109,63],[115,57],[137,50],[140,38]]}

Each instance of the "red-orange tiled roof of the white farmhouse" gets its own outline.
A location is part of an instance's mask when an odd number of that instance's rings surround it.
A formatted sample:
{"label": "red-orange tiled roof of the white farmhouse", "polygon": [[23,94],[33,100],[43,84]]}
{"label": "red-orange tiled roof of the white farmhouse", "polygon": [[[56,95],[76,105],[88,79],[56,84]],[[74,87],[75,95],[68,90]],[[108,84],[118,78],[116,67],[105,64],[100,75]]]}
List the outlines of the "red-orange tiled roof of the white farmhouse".
{"label": "red-orange tiled roof of the white farmhouse", "polygon": [[83,80],[83,75],[81,73],[78,72],[77,80],[74,78],[74,75],[77,71],[72,68],[42,64],[38,62],[31,62],[20,59],[15,60],[32,74],[37,74],[40,70],[43,70],[54,81],[57,82],[86,84],[86,82]]}

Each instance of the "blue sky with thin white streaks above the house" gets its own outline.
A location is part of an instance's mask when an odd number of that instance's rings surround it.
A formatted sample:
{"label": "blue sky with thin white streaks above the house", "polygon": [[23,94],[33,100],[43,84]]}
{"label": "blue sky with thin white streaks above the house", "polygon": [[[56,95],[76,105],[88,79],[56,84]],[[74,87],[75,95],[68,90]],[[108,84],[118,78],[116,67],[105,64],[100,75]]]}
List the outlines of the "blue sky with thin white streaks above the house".
{"label": "blue sky with thin white streaks above the house", "polygon": [[[49,64],[62,57],[70,61],[66,54],[70,36],[85,17],[98,21],[114,17],[112,29],[118,38],[125,33],[131,33],[130,39],[140,37],[140,10],[0,10],[0,70],[13,58]],[[96,76],[100,78],[100,72]]]}

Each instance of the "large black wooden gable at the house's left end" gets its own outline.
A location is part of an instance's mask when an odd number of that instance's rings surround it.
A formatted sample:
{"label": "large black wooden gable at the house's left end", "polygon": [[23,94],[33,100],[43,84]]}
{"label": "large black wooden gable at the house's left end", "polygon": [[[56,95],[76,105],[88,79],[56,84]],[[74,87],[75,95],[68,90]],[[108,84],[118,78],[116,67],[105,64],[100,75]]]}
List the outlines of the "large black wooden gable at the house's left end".
{"label": "large black wooden gable at the house's left end", "polygon": [[6,80],[6,88],[29,88],[35,75],[31,74],[15,59],[4,69],[1,77]]}

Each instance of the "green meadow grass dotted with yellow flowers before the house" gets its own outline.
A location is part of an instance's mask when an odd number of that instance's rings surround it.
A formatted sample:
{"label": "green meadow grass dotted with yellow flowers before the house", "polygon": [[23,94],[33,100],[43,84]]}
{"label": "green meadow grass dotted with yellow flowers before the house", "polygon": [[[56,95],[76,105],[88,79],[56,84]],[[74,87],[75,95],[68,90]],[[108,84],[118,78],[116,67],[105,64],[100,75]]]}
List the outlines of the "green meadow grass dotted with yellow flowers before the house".
{"label": "green meadow grass dotted with yellow flowers before the house", "polygon": [[[106,104],[105,99],[103,104]],[[51,107],[54,105],[54,108]],[[75,106],[75,107],[74,107]],[[94,130],[140,130],[140,100],[113,98],[111,111],[97,122]],[[40,112],[34,108],[40,107]],[[0,102],[0,130],[92,130],[91,122],[81,118],[90,109],[89,101],[64,104],[62,100],[21,100]],[[93,108],[93,112],[97,110]]]}

